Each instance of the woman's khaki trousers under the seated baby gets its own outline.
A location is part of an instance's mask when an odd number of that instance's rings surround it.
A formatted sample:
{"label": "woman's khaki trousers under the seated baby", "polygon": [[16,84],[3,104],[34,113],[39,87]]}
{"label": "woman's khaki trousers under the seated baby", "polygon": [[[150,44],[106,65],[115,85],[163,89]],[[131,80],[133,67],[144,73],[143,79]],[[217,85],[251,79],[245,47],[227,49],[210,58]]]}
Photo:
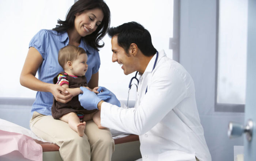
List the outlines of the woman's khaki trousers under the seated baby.
{"label": "woman's khaki trousers under the seated baby", "polygon": [[92,120],[86,122],[85,135],[80,137],[68,123],[34,112],[30,129],[38,137],[60,146],[63,161],[111,161],[112,134],[108,128],[98,129]]}

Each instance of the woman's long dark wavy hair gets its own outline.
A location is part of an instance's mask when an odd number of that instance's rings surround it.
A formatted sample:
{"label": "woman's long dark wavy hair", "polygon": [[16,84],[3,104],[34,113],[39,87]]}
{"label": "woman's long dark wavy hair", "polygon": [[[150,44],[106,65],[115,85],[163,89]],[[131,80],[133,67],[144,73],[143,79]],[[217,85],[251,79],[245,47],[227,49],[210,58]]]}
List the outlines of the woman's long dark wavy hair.
{"label": "woman's long dark wavy hair", "polygon": [[75,23],[75,14],[81,13],[86,9],[94,9],[99,8],[102,10],[104,17],[101,24],[97,27],[97,29],[90,35],[87,35],[82,38],[88,45],[93,47],[94,49],[99,51],[99,47],[104,46],[104,42],[102,45],[99,45],[99,41],[106,35],[110,25],[110,10],[108,5],[103,0],[79,0],[75,4],[71,6],[69,9],[66,20],[58,20],[59,25],[56,25],[53,30],[58,32],[67,31],[70,28],[74,27]]}

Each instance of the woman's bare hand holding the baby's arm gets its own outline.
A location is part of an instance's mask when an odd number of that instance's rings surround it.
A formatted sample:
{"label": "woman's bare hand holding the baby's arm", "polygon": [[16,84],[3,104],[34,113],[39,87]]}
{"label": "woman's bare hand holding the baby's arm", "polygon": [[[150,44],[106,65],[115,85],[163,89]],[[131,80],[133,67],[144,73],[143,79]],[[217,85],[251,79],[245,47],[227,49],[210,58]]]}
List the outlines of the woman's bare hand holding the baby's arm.
{"label": "woman's bare hand holding the baby's arm", "polygon": [[72,94],[69,93],[67,89],[61,87],[59,84],[51,84],[50,92],[52,93],[56,101],[59,101],[61,103],[67,103],[73,98]]}

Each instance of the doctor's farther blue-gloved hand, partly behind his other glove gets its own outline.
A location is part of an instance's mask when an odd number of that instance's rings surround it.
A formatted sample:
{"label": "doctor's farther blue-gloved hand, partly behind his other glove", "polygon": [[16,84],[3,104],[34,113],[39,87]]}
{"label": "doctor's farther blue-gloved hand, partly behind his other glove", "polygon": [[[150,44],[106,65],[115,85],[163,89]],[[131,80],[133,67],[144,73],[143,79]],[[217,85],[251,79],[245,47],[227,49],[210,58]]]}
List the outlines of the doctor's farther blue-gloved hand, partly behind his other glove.
{"label": "doctor's farther blue-gloved hand, partly behind his other glove", "polygon": [[[114,95],[114,93],[112,93],[111,91],[109,91],[105,87],[99,87],[97,91],[99,92],[98,93],[99,98],[105,99],[107,96],[110,96],[110,98],[104,100],[105,102],[114,104],[118,107],[121,106],[120,101],[118,101],[118,99],[116,98],[116,95]],[[103,92],[101,92],[101,91],[103,91]]]}

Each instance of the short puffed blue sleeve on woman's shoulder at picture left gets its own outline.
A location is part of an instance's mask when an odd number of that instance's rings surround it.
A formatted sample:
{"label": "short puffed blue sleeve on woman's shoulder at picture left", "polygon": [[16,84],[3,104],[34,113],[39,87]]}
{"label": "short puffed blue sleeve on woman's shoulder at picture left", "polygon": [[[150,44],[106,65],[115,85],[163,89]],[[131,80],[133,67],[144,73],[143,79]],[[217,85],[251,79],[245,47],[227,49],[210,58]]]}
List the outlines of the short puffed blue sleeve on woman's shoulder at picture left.
{"label": "short puffed blue sleeve on woman's shoulder at picture left", "polygon": [[49,35],[47,34],[48,30],[40,30],[35,34],[29,43],[29,47],[34,47],[42,55],[42,58],[45,59],[46,47],[49,46]]}

